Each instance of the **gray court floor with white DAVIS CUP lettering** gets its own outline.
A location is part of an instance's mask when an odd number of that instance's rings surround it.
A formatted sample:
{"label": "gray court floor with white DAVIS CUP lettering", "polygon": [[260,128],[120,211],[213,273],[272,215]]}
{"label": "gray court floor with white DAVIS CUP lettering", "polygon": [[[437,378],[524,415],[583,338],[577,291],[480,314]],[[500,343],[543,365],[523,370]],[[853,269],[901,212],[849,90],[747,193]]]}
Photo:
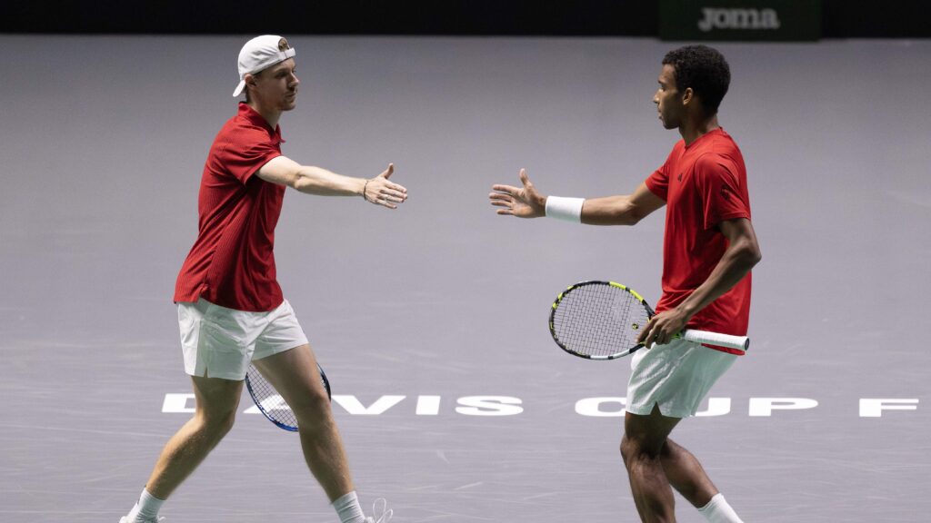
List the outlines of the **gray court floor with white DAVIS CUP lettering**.
{"label": "gray court floor with white DAVIS CUP lettering", "polygon": [[[115,523],[190,416],[171,294],[245,39],[0,37],[0,521]],[[678,44],[290,40],[285,154],[366,177],[394,162],[411,195],[388,212],[290,192],[277,228],[363,504],[636,521],[628,362],[562,354],[546,317],[582,279],[655,302],[662,216],[518,221],[487,194],[519,168],[549,194],[632,190],[679,138],[651,102]],[[926,521],[931,41],[718,47],[763,262],[750,354],[674,437],[746,521]],[[162,515],[334,522],[297,438],[240,412]]]}

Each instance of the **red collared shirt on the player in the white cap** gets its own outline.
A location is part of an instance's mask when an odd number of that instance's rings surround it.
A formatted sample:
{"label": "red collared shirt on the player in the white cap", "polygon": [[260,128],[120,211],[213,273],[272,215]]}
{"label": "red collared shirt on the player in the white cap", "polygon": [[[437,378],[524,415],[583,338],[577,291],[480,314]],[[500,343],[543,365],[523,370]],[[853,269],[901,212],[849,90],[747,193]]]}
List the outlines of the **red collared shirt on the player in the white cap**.
{"label": "red collared shirt on the player in the white cap", "polygon": [[274,310],[275,225],[285,187],[253,176],[281,155],[281,129],[245,103],[220,129],[200,180],[198,232],[178,275],[175,302],[202,297],[240,311]]}

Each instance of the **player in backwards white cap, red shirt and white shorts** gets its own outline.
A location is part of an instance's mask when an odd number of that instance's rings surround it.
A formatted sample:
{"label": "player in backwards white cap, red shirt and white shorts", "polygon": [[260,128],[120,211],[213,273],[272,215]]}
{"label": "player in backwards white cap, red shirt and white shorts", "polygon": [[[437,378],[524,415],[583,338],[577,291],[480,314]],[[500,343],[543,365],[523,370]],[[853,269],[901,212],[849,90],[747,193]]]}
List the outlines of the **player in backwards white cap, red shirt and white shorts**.
{"label": "player in backwards white cap, red shirt and white shorts", "polygon": [[[305,167],[281,154],[281,114],[294,109],[300,80],[288,41],[266,34],[239,52],[246,94],[217,134],[198,196],[198,234],[175,288],[184,369],[196,396],[194,417],[162,450],[140,500],[121,523],[160,520],[171,492],[232,428],[250,362],[285,398],[298,419],[304,460],[342,523],[385,523],[365,517],[349,474],[343,442],[317,360],[278,286],[273,252],[285,189],[361,196],[398,208],[407,189],[390,181],[394,167],[371,179]],[[217,516],[216,519],[222,519]]]}

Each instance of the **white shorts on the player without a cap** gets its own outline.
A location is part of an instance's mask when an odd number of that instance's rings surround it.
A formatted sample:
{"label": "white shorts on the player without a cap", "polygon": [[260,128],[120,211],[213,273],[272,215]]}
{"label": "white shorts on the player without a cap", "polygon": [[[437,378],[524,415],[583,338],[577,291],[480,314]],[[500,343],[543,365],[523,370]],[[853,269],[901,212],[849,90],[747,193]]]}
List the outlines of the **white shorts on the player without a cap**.
{"label": "white shorts on the player without a cap", "polygon": [[737,357],[684,340],[641,349],[630,361],[627,412],[646,416],[659,405],[669,418],[695,416],[711,385]]}

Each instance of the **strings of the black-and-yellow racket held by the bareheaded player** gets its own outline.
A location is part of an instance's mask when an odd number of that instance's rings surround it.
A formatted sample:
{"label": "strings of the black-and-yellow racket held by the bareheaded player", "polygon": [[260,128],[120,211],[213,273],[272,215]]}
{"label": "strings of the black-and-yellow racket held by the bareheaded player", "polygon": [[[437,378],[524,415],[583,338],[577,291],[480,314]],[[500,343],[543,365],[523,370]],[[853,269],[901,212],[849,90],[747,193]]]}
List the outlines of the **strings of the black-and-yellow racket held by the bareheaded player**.
{"label": "strings of the black-and-yellow racket held by the bareheaded player", "polygon": [[574,353],[617,355],[637,346],[650,315],[623,288],[587,285],[567,291],[553,311],[553,333]]}

